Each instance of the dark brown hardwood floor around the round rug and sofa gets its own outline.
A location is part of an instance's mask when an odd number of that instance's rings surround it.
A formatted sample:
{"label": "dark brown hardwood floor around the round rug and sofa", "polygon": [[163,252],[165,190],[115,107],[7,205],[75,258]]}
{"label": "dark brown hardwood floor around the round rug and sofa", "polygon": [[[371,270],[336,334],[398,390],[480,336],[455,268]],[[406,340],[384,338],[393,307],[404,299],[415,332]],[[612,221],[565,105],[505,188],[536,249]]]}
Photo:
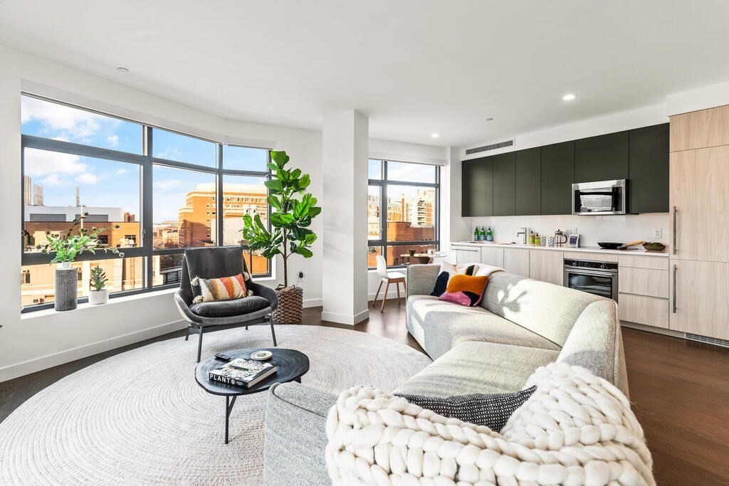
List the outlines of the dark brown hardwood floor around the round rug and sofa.
{"label": "dark brown hardwood floor around the round rug and sofa", "polygon": [[[372,310],[356,332],[388,337],[421,350],[405,330],[405,305],[389,300]],[[353,329],[321,321],[321,307],[304,310],[303,322]],[[0,383],[0,421],[23,401],[89,364],[151,342],[180,338],[173,332],[124,348]],[[623,329],[633,409],[655,461],[658,485],[729,485],[729,349]]]}

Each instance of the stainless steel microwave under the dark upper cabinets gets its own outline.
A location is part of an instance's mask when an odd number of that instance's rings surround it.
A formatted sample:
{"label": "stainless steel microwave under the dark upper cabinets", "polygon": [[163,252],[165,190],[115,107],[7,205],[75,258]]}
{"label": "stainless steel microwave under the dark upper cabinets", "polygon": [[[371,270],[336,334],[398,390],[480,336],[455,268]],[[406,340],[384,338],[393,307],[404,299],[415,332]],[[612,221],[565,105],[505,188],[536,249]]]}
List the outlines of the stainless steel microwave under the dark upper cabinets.
{"label": "stainless steel microwave under the dark upper cabinets", "polygon": [[625,214],[627,193],[625,179],[572,184],[572,214]]}

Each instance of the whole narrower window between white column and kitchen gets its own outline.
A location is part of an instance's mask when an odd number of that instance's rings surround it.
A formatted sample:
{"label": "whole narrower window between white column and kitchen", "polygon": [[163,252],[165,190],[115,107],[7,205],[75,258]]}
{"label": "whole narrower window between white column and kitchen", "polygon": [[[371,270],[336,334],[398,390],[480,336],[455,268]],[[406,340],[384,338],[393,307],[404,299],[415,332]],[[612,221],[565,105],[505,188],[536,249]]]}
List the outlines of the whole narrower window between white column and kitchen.
{"label": "whole narrower window between white column and kitchen", "polygon": [[397,267],[410,262],[410,250],[437,250],[440,168],[373,159],[368,164],[367,266],[376,267],[378,255]]}

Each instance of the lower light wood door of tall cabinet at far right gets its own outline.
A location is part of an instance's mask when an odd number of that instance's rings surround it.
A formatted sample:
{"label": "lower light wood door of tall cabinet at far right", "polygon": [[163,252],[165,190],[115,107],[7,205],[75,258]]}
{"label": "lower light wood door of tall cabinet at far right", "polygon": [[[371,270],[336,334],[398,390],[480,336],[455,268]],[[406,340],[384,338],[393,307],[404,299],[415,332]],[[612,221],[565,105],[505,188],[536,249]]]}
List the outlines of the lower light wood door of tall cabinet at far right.
{"label": "lower light wood door of tall cabinet at far right", "polygon": [[729,263],[671,259],[669,274],[670,329],[729,339]]}

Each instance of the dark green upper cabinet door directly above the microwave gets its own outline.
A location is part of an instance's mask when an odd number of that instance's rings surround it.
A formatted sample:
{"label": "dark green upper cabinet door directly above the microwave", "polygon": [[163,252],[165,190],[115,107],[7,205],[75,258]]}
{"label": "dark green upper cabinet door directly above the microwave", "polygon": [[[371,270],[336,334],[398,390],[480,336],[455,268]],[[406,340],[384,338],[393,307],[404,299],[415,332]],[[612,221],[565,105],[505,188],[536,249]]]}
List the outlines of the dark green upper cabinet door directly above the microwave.
{"label": "dark green upper cabinet door directly above the microwave", "polygon": [[574,181],[628,179],[628,132],[574,141]]}

